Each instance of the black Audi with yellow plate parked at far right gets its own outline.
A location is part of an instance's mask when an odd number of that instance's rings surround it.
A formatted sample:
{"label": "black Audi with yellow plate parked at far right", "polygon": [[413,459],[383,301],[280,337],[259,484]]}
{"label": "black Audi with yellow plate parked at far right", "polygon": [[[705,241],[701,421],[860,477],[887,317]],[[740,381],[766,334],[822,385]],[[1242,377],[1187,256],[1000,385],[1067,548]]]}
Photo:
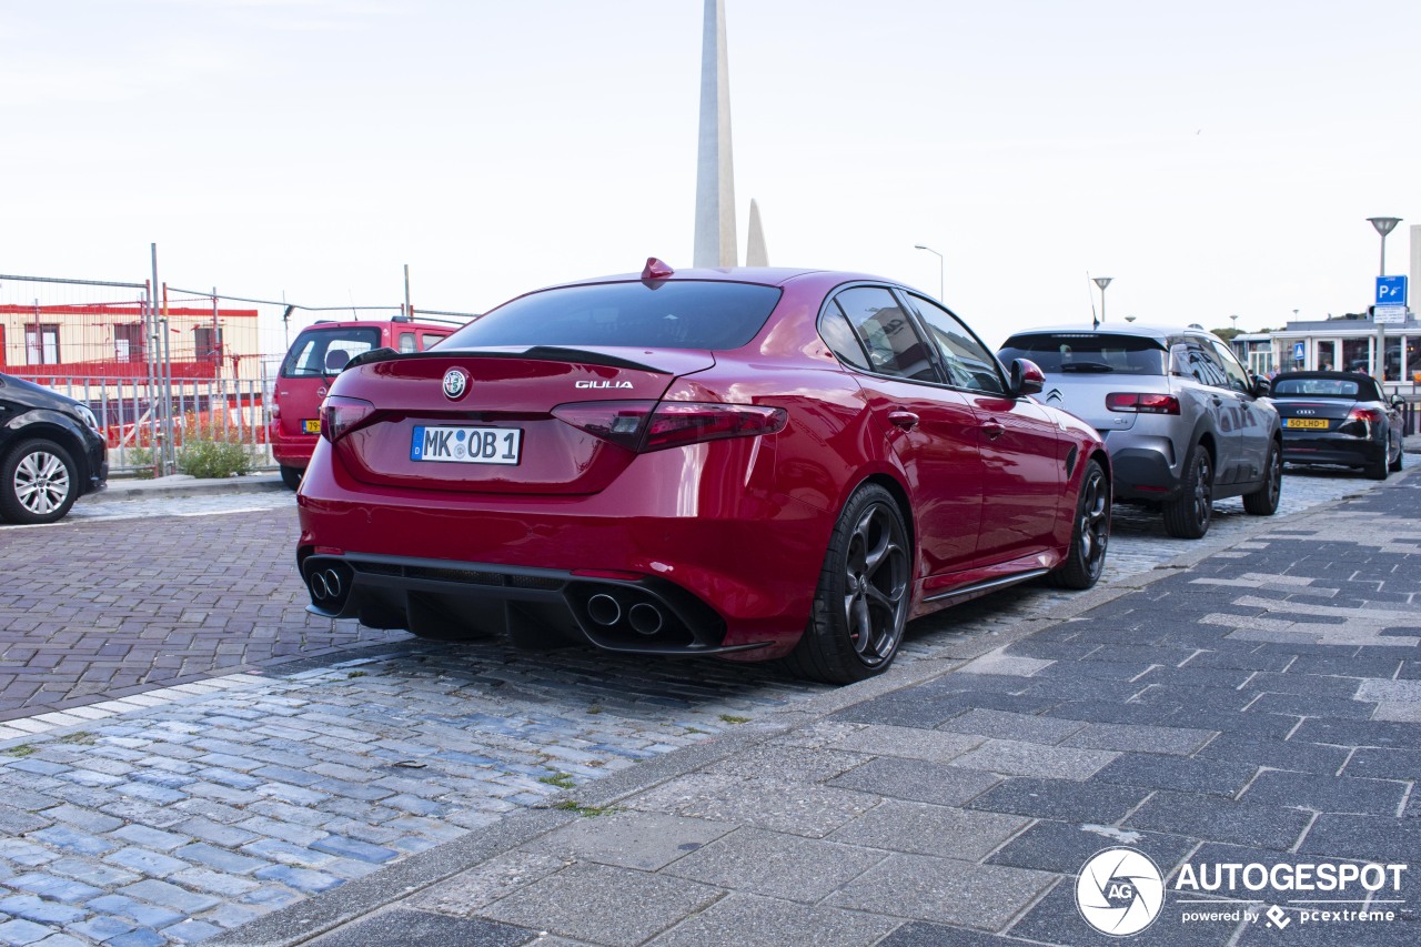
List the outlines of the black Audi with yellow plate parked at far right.
{"label": "black Audi with yellow plate parked at far right", "polygon": [[1384,481],[1401,469],[1403,404],[1356,371],[1285,371],[1273,378],[1283,461],[1360,466]]}

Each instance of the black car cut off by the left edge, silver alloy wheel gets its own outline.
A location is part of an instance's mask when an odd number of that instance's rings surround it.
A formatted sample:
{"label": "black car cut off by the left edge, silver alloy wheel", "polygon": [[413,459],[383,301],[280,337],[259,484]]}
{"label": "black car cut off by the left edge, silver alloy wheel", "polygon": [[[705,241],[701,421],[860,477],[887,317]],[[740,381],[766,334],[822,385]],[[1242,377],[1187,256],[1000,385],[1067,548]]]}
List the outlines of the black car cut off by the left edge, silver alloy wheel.
{"label": "black car cut off by the left edge, silver alloy wheel", "polygon": [[0,520],[53,523],[108,481],[108,446],[82,402],[0,373]]}

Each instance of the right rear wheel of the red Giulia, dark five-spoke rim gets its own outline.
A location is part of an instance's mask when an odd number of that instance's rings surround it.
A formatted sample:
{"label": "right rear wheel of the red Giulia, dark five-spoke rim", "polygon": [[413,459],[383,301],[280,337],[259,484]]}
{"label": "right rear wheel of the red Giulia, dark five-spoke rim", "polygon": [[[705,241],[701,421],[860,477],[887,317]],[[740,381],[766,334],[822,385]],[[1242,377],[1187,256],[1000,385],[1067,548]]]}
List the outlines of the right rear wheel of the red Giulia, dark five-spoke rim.
{"label": "right rear wheel of the red Giulia, dark five-spoke rim", "polygon": [[881,486],[861,486],[830,535],[809,627],[786,664],[827,684],[881,674],[902,641],[911,592],[912,547],[898,503]]}

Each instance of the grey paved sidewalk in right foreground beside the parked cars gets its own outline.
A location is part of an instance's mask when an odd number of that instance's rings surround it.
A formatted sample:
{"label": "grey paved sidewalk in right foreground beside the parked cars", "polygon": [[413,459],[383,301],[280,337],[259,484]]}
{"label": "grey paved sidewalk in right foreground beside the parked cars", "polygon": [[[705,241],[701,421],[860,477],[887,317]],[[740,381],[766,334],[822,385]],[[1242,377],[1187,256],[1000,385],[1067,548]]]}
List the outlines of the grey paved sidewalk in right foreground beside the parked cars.
{"label": "grey paved sidewalk in right foreground beside the parked cars", "polygon": [[[1093,590],[206,943],[1106,944],[1076,882],[1121,845],[1165,883],[1134,943],[1421,943],[1418,488]],[[1395,890],[1317,896],[1391,920],[1174,889],[1184,866],[1324,862],[1408,866]]]}

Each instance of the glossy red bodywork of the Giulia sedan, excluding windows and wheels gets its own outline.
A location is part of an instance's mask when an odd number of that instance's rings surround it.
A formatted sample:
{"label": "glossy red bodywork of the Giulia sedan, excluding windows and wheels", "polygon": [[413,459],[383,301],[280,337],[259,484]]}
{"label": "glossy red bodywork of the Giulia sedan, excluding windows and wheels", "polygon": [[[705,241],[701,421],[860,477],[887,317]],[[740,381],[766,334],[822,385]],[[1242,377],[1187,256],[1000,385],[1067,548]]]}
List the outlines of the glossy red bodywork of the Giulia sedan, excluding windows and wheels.
{"label": "glossy red bodywork of the Giulia sedan, excluding windows and wheels", "polygon": [[[989,354],[978,368],[1000,391],[857,370],[817,328],[845,287],[911,290],[854,273],[729,269],[605,277],[514,303],[689,282],[780,296],[753,337],[729,348],[465,350],[456,336],[341,373],[328,407],[354,427],[320,439],[297,498],[313,610],[429,637],[519,638],[553,626],[620,651],[776,658],[800,641],[831,532],[865,483],[905,513],[911,617],[1061,566],[1087,461],[1108,472],[1094,429],[1010,394]],[[452,370],[468,378],[458,397],[442,387]],[[773,434],[638,452],[553,411],[601,402],[757,405],[787,421]],[[412,459],[416,425],[517,428],[522,455],[516,465]],[[1108,483],[1106,496],[1108,509]],[[665,638],[595,627],[598,589],[645,590],[685,627]]]}

